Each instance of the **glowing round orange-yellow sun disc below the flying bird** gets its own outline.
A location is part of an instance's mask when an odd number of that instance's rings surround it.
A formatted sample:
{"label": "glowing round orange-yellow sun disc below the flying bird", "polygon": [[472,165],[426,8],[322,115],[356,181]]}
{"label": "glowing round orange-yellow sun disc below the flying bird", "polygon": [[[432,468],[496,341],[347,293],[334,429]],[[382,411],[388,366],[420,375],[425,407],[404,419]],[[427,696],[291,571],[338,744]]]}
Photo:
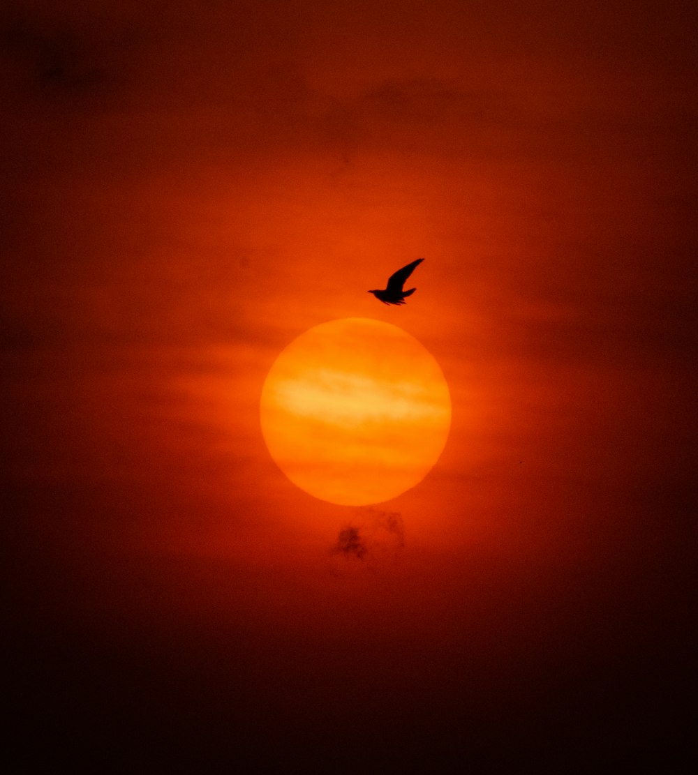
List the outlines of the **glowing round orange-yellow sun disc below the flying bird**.
{"label": "glowing round orange-yellow sun disc below the flying bird", "polygon": [[434,356],[396,325],[316,325],[279,354],[264,381],[261,431],[293,484],[323,501],[368,505],[419,484],[451,425]]}

